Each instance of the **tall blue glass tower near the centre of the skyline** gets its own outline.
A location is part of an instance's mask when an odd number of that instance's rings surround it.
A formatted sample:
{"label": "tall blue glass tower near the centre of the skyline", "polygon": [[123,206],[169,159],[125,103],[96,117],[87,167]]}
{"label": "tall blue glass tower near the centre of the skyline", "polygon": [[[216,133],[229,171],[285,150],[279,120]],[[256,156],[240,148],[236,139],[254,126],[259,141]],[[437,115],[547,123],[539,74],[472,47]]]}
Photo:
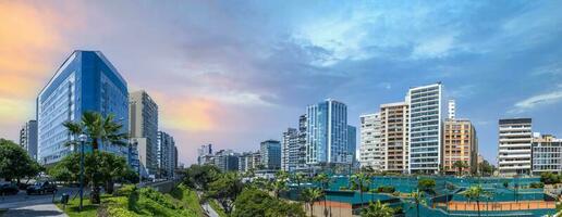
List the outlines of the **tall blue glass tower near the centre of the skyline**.
{"label": "tall blue glass tower near the centre of the skyline", "polygon": [[307,106],[306,163],[350,164],[347,106],[332,99]]}

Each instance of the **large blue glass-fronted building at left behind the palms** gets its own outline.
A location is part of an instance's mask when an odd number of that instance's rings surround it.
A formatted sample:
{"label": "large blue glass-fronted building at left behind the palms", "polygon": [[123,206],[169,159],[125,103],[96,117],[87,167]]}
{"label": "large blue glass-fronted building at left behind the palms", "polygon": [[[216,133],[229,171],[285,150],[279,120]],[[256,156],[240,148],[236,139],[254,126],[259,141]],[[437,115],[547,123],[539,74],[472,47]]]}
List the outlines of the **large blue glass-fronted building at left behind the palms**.
{"label": "large blue glass-fronted building at left behind the palms", "polygon": [[[62,124],[78,122],[86,111],[114,115],[129,131],[126,81],[99,51],[74,51],[37,97],[37,159],[51,165],[73,152],[64,143],[76,140]],[[127,148],[100,144],[99,150],[127,155]]]}

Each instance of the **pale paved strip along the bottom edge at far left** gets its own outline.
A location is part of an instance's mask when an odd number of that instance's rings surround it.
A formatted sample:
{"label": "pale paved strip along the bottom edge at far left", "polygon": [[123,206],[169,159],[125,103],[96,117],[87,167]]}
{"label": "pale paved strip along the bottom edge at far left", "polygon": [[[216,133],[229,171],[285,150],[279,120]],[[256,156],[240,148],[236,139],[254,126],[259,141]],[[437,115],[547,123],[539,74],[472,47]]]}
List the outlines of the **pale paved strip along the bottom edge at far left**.
{"label": "pale paved strip along the bottom edge at far left", "polygon": [[59,207],[52,203],[36,204],[29,206],[22,206],[17,208],[8,209],[4,216],[10,217],[34,217],[34,216],[49,216],[49,217],[68,217]]}

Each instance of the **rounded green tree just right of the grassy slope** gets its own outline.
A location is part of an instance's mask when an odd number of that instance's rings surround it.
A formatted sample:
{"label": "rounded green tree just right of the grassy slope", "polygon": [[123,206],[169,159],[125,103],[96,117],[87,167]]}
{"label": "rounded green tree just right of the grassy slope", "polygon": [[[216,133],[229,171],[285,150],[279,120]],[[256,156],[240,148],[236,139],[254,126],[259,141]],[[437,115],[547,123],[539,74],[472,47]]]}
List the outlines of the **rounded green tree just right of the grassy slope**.
{"label": "rounded green tree just right of the grassy slope", "polygon": [[236,173],[221,174],[219,178],[209,183],[206,197],[217,200],[224,213],[231,214],[234,201],[242,192],[244,184]]}

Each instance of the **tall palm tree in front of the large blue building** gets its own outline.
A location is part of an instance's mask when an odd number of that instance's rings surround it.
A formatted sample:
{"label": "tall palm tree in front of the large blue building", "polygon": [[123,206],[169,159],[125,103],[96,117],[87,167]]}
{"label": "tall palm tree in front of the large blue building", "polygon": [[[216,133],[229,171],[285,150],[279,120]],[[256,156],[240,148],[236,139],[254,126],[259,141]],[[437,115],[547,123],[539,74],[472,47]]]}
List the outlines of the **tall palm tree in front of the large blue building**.
{"label": "tall palm tree in front of the large blue building", "polygon": [[[80,135],[86,135],[89,138],[87,144],[91,145],[94,154],[99,150],[99,144],[127,145],[127,133],[123,133],[123,125],[113,120],[113,115],[106,117],[96,112],[84,112],[81,122],[64,122],[62,125],[69,130],[69,133],[77,138]],[[77,145],[77,141],[72,140],[66,145]],[[99,204],[99,188],[96,175],[91,175],[91,193],[90,202]]]}

